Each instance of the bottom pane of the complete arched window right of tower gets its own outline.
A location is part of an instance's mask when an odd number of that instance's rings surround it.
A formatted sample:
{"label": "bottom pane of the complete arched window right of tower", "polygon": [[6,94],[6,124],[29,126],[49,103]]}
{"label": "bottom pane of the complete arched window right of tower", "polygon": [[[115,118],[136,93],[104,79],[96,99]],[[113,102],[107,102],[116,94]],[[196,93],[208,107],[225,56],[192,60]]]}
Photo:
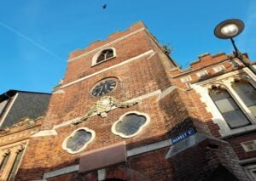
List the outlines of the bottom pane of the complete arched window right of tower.
{"label": "bottom pane of the complete arched window right of tower", "polygon": [[230,128],[244,127],[250,124],[246,116],[241,110],[234,110],[223,114],[225,121],[229,124]]}

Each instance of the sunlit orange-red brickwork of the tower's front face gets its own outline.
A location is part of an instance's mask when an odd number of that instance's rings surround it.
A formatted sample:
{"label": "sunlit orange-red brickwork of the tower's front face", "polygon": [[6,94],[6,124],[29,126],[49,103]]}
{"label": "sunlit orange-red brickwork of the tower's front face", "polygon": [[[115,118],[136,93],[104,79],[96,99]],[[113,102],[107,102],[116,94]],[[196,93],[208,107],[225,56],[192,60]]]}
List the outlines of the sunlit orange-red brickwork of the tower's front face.
{"label": "sunlit orange-red brickwork of the tower's front face", "polygon": [[[135,25],[131,27],[129,32],[136,31],[141,27],[143,27],[141,24]],[[122,33],[117,33],[112,35],[112,40],[118,38],[119,35],[123,36]],[[84,54],[86,51],[90,51],[101,45],[102,42],[95,42],[90,45],[89,49],[73,53],[71,58],[79,54]],[[68,63],[64,83],[78,79],[81,74],[83,74],[83,76],[90,75],[91,73],[100,71],[111,65],[116,65],[126,59],[131,59],[134,56],[143,54],[152,48],[154,48],[155,51],[160,51],[160,48],[154,45],[152,37],[148,37],[146,31],[141,31],[131,37],[125,38],[110,47],[116,48],[117,57],[103,62],[100,65],[90,67],[91,58],[96,52]],[[166,59],[166,57],[164,58]],[[96,76],[91,76],[67,88],[62,88],[64,93],[53,93],[49,102],[48,112],[44,118],[43,127],[50,129],[56,124],[84,116],[99,99],[90,94],[91,89],[95,86],[96,82],[106,77],[115,77],[118,79],[117,88],[108,95],[120,101],[134,99],[138,96],[170,87],[171,82],[166,76],[166,69],[168,66],[172,65],[172,62],[162,65],[160,59],[164,58],[163,55],[160,54],[154,54],[150,57],[147,55],[125,65],[102,72]],[[27,177],[39,179],[42,178],[43,173],[77,164],[80,154],[71,155],[67,153],[67,151],[62,150],[61,144],[63,140],[78,127],[89,127],[96,132],[96,139],[94,139],[84,151],[119,143],[123,140],[126,142],[127,149],[130,150],[140,145],[167,139],[166,125],[157,98],[157,96],[154,96],[143,99],[139,105],[127,109],[118,108],[111,110],[108,112],[106,118],[92,116],[87,119],[86,122],[77,126],[58,128],[56,130],[58,133],[57,136],[31,139],[24,156],[24,161],[21,162],[18,178]],[[131,139],[123,139],[111,133],[113,122],[116,122],[120,116],[131,110],[141,111],[150,116],[150,122],[147,127],[144,127],[141,133]],[[83,153],[83,151],[81,153]],[[31,157],[33,158],[32,161],[30,159]]]}

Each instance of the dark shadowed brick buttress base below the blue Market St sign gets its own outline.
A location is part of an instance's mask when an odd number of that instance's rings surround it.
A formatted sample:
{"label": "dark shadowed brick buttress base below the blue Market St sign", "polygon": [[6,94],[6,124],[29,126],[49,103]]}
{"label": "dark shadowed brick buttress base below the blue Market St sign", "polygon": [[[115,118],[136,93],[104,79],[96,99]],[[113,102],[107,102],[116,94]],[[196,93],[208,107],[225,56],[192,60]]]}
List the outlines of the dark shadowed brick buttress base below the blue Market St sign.
{"label": "dark shadowed brick buttress base below the blue Market St sign", "polygon": [[170,161],[174,167],[174,180],[207,180],[220,165],[239,180],[248,180],[230,145],[218,140],[207,139],[178,153]]}

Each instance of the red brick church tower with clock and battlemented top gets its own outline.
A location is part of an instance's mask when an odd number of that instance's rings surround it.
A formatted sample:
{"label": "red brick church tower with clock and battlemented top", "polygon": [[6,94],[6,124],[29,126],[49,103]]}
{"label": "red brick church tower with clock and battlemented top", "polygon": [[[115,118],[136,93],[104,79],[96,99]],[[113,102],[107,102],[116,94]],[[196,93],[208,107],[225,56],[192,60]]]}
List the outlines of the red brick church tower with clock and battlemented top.
{"label": "red brick church tower with clock and battlemented top", "polygon": [[16,179],[247,180],[190,74],[142,22],[75,50]]}

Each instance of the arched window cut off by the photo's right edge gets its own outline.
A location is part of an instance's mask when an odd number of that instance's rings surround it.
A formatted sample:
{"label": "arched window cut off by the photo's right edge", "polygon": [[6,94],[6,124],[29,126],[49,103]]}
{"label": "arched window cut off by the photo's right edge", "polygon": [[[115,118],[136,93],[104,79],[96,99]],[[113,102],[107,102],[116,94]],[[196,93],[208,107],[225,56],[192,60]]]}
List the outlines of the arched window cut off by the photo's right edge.
{"label": "arched window cut off by the photo's right edge", "polygon": [[232,84],[232,88],[238,94],[247,108],[256,117],[256,90],[249,82],[236,81]]}

